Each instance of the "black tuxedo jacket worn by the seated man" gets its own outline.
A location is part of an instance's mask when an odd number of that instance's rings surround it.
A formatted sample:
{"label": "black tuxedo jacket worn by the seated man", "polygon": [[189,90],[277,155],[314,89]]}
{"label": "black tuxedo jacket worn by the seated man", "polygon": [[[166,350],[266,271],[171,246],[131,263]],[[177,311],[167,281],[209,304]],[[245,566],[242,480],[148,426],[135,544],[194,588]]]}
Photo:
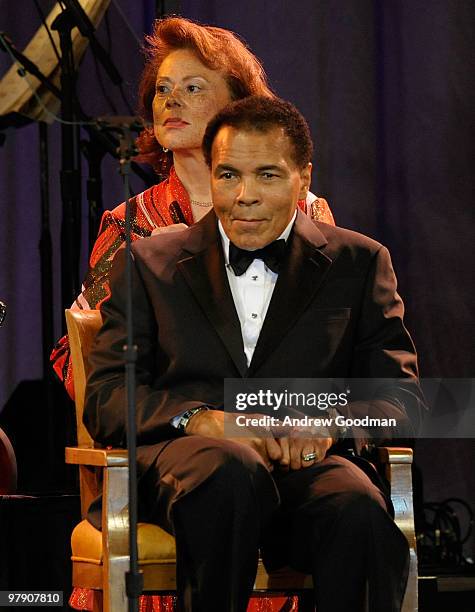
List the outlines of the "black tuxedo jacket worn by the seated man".
{"label": "black tuxedo jacket worn by the seated man", "polygon": [[[298,212],[249,368],[214,212],[196,225],[133,244],[139,465],[180,434],[170,420],[194,406],[223,409],[223,379],[395,378],[372,416],[417,427],[416,354],[386,248]],[[125,252],[90,356],[85,424],[104,445],[125,444]],[[341,409],[365,415],[364,401]],[[153,448],[153,450],[152,450]]]}

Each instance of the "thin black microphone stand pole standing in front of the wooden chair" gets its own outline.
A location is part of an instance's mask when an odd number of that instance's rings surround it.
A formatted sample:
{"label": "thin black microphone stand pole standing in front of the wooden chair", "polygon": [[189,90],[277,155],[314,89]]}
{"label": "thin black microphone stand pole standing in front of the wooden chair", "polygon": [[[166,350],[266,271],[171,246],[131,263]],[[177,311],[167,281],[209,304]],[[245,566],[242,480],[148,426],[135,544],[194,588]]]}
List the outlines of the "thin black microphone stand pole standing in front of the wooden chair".
{"label": "thin black microphone stand pole standing in front of the wooden chair", "polygon": [[129,550],[130,569],[125,574],[125,588],[129,600],[129,612],[138,611],[138,598],[143,591],[143,575],[138,565],[137,547],[137,427],[135,421],[135,364],[137,361],[137,346],[133,338],[133,304],[132,304],[132,215],[130,210],[130,159],[136,155],[132,131],[126,123],[120,123],[121,118],[114,118],[115,129],[120,139],[120,174],[124,181],[125,214],[125,244],[126,244],[126,325],[127,344],[124,346],[125,381],[127,389],[127,449],[129,458]]}

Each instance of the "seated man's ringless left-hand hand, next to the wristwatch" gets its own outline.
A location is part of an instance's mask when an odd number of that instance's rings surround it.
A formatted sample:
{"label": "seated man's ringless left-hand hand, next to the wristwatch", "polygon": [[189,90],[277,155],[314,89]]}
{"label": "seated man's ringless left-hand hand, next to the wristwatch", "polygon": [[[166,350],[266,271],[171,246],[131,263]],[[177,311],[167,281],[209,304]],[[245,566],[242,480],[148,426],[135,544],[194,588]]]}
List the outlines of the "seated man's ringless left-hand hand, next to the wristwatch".
{"label": "seated man's ringless left-hand hand, next to the wristwatch", "polygon": [[236,425],[236,415],[221,410],[197,412],[188,421],[185,433],[208,438],[227,438],[250,446],[262,457],[270,471],[274,468],[274,462],[282,459],[282,448],[270,433],[262,435],[262,428],[253,430],[251,427],[240,427]]}

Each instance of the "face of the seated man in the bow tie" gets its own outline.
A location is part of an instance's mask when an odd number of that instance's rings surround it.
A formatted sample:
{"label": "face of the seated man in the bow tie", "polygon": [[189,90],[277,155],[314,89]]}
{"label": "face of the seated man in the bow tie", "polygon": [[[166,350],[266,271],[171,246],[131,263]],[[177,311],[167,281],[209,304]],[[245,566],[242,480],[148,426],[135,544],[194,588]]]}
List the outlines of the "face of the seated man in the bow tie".
{"label": "face of the seated man in the bow tie", "polygon": [[215,212],[236,246],[260,249],[287,227],[310,186],[311,164],[292,158],[283,128],[267,132],[222,127],[211,149]]}

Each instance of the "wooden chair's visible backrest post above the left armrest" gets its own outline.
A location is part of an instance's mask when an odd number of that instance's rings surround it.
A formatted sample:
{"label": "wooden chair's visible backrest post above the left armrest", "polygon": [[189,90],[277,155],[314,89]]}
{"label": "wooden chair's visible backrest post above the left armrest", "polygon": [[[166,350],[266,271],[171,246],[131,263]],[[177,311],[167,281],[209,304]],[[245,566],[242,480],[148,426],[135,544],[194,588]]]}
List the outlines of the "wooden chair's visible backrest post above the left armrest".
{"label": "wooden chair's visible backrest post above the left armrest", "polygon": [[94,338],[102,326],[99,310],[66,310],[69,346],[74,377],[74,396],[76,404],[76,423],[79,446],[92,448],[94,442],[82,422],[84,394],[89,372],[87,356],[91,351]]}

